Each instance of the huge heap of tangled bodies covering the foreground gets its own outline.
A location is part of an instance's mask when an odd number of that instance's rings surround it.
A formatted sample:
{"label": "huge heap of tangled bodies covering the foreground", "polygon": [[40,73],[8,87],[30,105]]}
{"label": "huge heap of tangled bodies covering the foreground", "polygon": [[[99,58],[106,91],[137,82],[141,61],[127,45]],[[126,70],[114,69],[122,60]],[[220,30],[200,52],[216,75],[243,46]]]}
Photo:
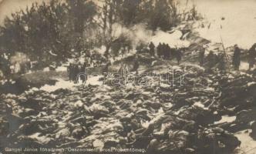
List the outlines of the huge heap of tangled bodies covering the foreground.
{"label": "huge heap of tangled bodies covering the foreground", "polygon": [[[167,66],[152,69],[163,75],[170,70]],[[179,70],[187,73],[183,86],[158,85],[156,80],[155,85],[79,85],[72,91],[34,89],[22,95],[1,95],[5,125],[0,148],[232,153],[241,142],[227,129],[211,126],[224,114],[220,104],[228,105],[220,96],[220,85],[214,82],[222,81],[221,75],[209,75],[194,65],[180,65]],[[243,82],[238,76],[234,79],[237,85]],[[219,84],[225,87],[229,83]],[[235,96],[225,95],[230,99]]]}

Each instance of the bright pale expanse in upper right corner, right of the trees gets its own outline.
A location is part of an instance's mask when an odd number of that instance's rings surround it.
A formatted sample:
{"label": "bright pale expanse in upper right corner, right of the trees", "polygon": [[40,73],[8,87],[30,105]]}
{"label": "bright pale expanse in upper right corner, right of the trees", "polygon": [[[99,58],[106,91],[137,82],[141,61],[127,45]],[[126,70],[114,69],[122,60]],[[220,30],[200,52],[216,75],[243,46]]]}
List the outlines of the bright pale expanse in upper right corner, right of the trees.
{"label": "bright pale expanse in upper right corner, right of the trees", "polygon": [[256,1],[214,0],[194,1],[198,11],[209,21],[204,28],[198,28],[205,39],[221,42],[225,47],[237,44],[248,49],[256,39]]}

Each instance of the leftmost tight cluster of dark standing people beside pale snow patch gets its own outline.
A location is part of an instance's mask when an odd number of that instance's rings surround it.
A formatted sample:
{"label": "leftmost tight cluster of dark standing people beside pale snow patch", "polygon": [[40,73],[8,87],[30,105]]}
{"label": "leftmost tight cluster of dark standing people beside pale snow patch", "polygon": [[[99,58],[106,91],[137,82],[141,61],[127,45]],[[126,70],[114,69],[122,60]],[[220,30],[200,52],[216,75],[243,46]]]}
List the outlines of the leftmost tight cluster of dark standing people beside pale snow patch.
{"label": "leftmost tight cluster of dark standing people beside pale snow patch", "polygon": [[86,62],[83,64],[81,62],[69,63],[68,66],[69,81],[77,83],[79,79],[84,83],[86,82]]}

